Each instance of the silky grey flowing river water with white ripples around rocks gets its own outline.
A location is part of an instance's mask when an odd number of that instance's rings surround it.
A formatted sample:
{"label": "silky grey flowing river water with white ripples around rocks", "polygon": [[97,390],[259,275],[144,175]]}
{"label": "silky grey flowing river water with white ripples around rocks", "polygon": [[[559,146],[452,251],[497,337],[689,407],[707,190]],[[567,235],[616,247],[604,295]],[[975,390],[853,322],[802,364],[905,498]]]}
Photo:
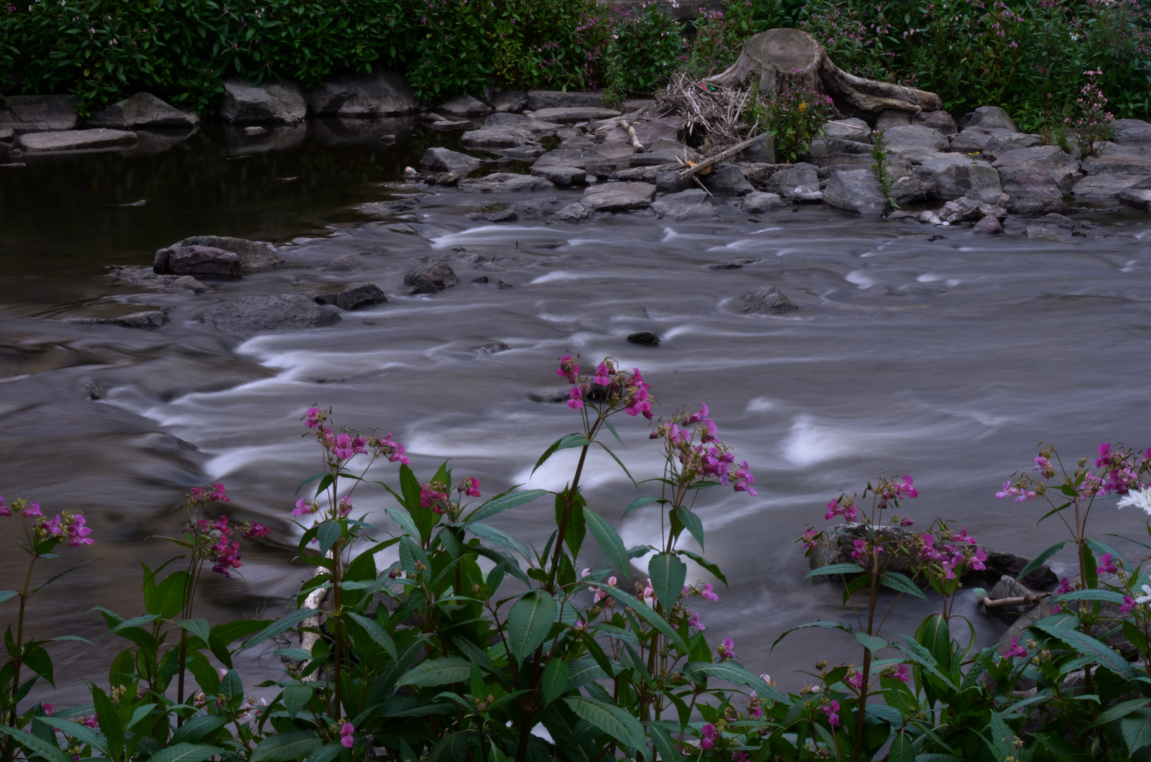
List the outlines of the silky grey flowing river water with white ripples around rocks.
{"label": "silky grey flowing river water with white ripples around rocks", "polygon": [[[794,542],[825,524],[823,506],[841,489],[884,471],[913,474],[921,496],[904,509],[917,523],[953,519],[981,543],[1030,556],[1062,539],[1062,526],[1037,525],[1039,504],[993,493],[1030,465],[1037,442],[1057,443],[1067,459],[1105,440],[1151,444],[1145,213],[1100,213],[1092,219],[1113,237],[1055,243],[1029,241],[1019,222],[984,237],[818,206],[752,219],[721,203],[718,222],[641,212],[578,226],[473,220],[525,198],[453,189],[419,192],[409,213],[361,207],[420,191],[403,184],[403,167],[427,145],[451,146],[405,129],[397,146],[379,142],[396,130],[319,122],[261,143],[209,127],[163,151],[29,157],[26,167],[0,169],[0,485],[9,502],[18,492],[49,511],[85,511],[97,539],[38,571],[93,559],[33,599],[30,632],[94,639],[105,625],[92,607],[139,614],[137,562],[173,555],[159,535],[178,532],[183,493],[216,481],[231,495],[234,521],[259,520],[273,535],[245,547],[241,578],[213,576],[199,616],[283,612],[307,573],[291,563],[289,519],[318,463],[300,436],[311,404],[333,406],[350,426],[392,432],[425,479],[450,458],[457,475],[483,479],[486,495],[514,483],[562,487],[573,451],[534,477],[531,465],[577,426],[556,402],[556,358],[569,351],[641,368],[664,414],[707,403],[723,441],[753,466],[757,497],[716,489],[698,503],[704,555],[730,582],[717,585],[721,600],[702,604],[701,617],[712,640],[732,638],[745,664],[784,687],[801,685],[798,670],[821,656],[857,658],[843,633],[822,631],[769,654],[787,627],[853,619],[832,586],[802,582],[807,563]],[[566,203],[578,191],[551,196]],[[288,266],[199,296],[109,277],[108,266],[148,264],[155,249],[189,235],[268,241]],[[321,269],[348,253],[360,257],[360,270]],[[409,295],[403,275],[425,258],[451,259],[460,284]],[[388,303],[330,328],[247,340],[198,320],[237,296],[350,281],[379,284]],[[800,310],[742,313],[739,295],[762,284]],[[170,308],[171,322],[142,332],[63,321],[142,305]],[[637,330],[656,332],[662,344],[627,343]],[[654,475],[660,457],[646,421],[617,422],[627,467]],[[396,471],[382,466],[374,478],[395,483]],[[607,456],[592,459],[584,483],[611,520],[646,494]],[[378,487],[355,495],[381,521],[390,500]],[[623,521],[625,542],[656,541],[656,508]],[[1142,515],[1112,503],[1097,510],[1097,535],[1145,532]],[[539,501],[493,523],[539,547],[552,510]],[[589,561],[594,553],[585,550]],[[1069,561],[1057,556],[1057,571]],[[20,553],[0,564],[0,587],[18,588]],[[909,631],[935,605],[902,601],[884,632]],[[970,592],[956,611],[975,622],[981,642],[1003,628]],[[0,617],[15,620],[13,602]],[[81,699],[79,676],[102,679],[116,648],[110,639],[58,648],[63,698]]]}

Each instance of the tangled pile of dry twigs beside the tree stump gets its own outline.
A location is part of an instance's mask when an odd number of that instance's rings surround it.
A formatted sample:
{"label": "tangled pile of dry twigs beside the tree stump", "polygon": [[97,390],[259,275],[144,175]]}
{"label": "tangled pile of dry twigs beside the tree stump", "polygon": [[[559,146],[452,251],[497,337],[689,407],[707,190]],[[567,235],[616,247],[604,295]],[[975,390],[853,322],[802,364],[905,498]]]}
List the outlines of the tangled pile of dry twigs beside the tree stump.
{"label": "tangled pile of dry twigs beside the tree stump", "polygon": [[762,131],[744,115],[750,102],[749,90],[701,86],[699,79],[683,73],[656,94],[660,114],[683,117],[688,139],[702,138],[708,153],[729,148]]}

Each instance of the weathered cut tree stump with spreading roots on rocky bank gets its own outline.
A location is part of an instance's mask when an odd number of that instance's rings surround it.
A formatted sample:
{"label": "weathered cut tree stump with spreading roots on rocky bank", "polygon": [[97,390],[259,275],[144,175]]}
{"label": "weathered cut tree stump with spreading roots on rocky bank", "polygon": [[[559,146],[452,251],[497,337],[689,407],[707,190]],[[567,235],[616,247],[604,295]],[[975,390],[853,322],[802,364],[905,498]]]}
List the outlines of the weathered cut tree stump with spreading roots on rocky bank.
{"label": "weathered cut tree stump with spreading roots on rocky bank", "polygon": [[943,101],[933,92],[844,71],[814,37],[798,29],[769,29],[747,38],[739,60],[704,82],[722,87],[742,87],[753,76],[763,92],[776,92],[785,82],[818,90],[830,96],[836,108],[848,116],[875,115],[889,108],[914,113],[943,108]]}

